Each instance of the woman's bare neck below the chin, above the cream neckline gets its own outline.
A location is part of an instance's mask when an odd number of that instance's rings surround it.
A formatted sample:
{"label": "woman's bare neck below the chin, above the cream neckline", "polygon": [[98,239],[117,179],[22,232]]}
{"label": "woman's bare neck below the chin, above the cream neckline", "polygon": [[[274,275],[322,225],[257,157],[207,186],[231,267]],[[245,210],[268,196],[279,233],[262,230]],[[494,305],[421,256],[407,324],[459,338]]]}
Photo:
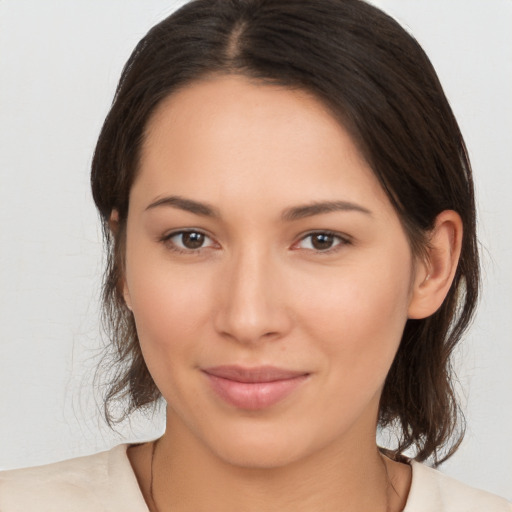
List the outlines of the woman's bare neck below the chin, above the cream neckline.
{"label": "woman's bare neck below the chin, above the cream neckline", "polygon": [[284,466],[255,468],[230,464],[168,425],[152,460],[157,511],[211,510],[212,503],[225,512],[241,503],[246,512],[391,510],[389,471],[374,437],[348,437]]}

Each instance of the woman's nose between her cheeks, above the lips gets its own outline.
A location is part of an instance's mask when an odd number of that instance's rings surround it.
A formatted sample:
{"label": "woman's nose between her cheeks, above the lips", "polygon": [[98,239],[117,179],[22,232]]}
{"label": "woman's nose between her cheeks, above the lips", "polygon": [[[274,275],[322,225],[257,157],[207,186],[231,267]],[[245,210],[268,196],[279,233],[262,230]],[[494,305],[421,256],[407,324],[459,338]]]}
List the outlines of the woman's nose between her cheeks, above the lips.
{"label": "woman's nose between her cheeks, above the lips", "polygon": [[283,272],[269,254],[247,247],[220,276],[215,328],[239,343],[279,339],[292,327]]}

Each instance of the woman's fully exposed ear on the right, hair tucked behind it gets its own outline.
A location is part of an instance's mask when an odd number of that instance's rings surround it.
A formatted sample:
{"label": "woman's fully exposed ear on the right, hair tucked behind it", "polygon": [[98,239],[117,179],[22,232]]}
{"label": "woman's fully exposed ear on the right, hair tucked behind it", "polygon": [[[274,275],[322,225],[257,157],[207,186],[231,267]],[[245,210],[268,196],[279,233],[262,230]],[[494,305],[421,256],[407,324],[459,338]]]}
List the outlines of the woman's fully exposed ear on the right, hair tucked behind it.
{"label": "woman's fully exposed ear on the right, hair tucked behind it", "polygon": [[416,265],[409,318],[426,318],[441,307],[457,270],[462,230],[462,220],[457,212],[445,210],[436,217],[427,257]]}

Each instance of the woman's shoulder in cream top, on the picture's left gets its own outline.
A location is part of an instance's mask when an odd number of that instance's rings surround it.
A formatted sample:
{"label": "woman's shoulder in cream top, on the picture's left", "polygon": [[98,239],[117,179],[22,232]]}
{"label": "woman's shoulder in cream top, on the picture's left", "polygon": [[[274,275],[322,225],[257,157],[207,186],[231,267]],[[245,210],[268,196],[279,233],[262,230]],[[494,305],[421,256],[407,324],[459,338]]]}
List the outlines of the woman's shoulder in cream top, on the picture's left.
{"label": "woman's shoulder in cream top, on the picture's left", "polygon": [[2,512],[120,509],[147,512],[126,445],[45,466],[0,472]]}

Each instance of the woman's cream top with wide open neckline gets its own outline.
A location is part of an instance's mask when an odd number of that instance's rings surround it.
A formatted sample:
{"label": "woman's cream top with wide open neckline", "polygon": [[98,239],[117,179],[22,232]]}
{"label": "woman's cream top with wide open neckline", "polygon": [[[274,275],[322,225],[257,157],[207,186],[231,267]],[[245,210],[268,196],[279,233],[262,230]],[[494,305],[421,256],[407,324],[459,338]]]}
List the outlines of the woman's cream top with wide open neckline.
{"label": "woman's cream top with wide open neckline", "polygon": [[[1,512],[148,512],[126,449],[0,472]],[[512,503],[418,462],[403,512],[512,512]]]}

